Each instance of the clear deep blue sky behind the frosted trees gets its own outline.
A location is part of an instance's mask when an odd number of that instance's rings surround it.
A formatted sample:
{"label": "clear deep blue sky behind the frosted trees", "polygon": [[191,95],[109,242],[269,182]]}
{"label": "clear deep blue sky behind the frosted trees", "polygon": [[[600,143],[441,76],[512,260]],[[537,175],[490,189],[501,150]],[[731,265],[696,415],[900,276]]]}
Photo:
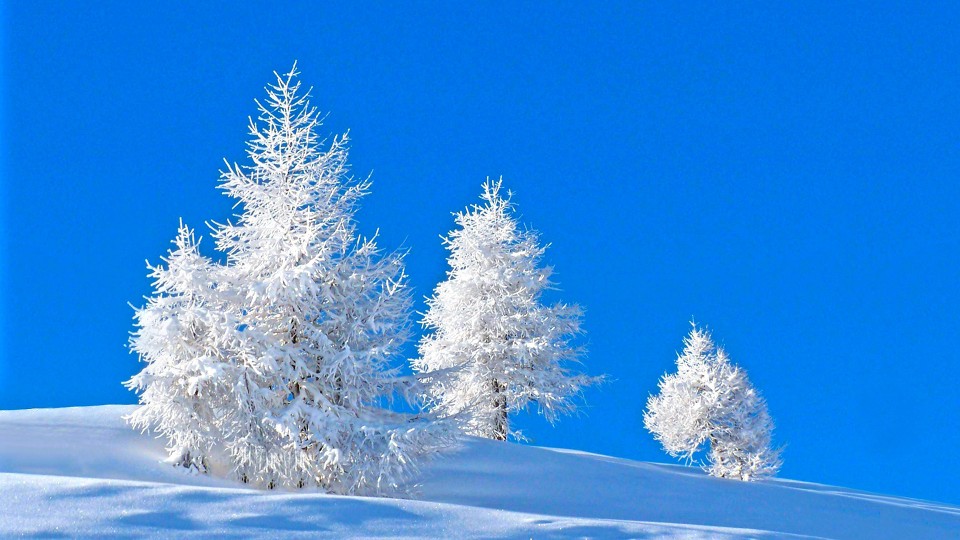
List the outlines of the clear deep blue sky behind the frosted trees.
{"label": "clear deep blue sky behind the frosted trees", "polygon": [[230,215],[297,59],[418,298],[487,176],[552,243],[611,382],[535,444],[669,461],[641,415],[695,317],[781,476],[960,503],[955,3],[204,4],[3,6],[0,408],[135,401],[144,259]]}

